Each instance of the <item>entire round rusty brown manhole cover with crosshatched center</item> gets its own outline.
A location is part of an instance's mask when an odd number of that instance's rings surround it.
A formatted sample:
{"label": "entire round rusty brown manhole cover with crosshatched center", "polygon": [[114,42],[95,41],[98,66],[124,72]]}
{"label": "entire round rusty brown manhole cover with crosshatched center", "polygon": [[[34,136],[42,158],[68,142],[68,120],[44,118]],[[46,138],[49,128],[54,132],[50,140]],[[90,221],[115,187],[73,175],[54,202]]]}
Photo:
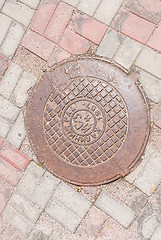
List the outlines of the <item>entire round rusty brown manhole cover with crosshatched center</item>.
{"label": "entire round rusty brown manhole cover with crosshatched center", "polygon": [[39,161],[78,185],[128,174],[149,133],[146,99],[135,80],[97,58],[69,61],[45,73],[26,118]]}

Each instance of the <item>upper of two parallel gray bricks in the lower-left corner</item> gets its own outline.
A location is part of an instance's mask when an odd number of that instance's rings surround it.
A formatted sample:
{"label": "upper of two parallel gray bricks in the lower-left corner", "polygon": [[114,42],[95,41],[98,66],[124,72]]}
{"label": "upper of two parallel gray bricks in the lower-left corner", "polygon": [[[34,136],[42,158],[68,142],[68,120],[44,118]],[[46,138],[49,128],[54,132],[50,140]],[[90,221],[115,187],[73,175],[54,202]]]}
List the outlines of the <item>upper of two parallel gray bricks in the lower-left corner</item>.
{"label": "upper of two parallel gray bricks in the lower-left corner", "polygon": [[39,206],[18,193],[13,193],[9,205],[15,208],[17,212],[23,215],[23,217],[28,219],[31,223],[35,223],[42,213],[42,209]]}

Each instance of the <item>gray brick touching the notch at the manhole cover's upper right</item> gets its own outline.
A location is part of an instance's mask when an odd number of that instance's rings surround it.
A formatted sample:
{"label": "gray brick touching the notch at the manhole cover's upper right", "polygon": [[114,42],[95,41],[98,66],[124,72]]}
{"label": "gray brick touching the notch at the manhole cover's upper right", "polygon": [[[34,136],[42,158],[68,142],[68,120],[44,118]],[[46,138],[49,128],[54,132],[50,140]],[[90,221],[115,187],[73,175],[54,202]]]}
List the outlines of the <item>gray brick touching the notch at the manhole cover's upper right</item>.
{"label": "gray brick touching the notch at the manhole cover's upper right", "polygon": [[115,56],[115,61],[129,70],[133,65],[137,55],[141,51],[142,45],[130,38],[125,38]]}

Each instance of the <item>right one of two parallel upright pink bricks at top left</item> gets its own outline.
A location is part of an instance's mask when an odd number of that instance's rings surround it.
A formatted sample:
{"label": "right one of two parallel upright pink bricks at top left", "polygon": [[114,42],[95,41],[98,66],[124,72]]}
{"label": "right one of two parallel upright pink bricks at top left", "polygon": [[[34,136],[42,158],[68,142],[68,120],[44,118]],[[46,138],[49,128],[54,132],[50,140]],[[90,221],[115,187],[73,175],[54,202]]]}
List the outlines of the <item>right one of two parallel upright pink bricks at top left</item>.
{"label": "right one of two parallel upright pink bricks at top left", "polygon": [[45,37],[58,43],[66,26],[72,16],[73,8],[61,2],[52,16],[52,19],[45,30]]}

